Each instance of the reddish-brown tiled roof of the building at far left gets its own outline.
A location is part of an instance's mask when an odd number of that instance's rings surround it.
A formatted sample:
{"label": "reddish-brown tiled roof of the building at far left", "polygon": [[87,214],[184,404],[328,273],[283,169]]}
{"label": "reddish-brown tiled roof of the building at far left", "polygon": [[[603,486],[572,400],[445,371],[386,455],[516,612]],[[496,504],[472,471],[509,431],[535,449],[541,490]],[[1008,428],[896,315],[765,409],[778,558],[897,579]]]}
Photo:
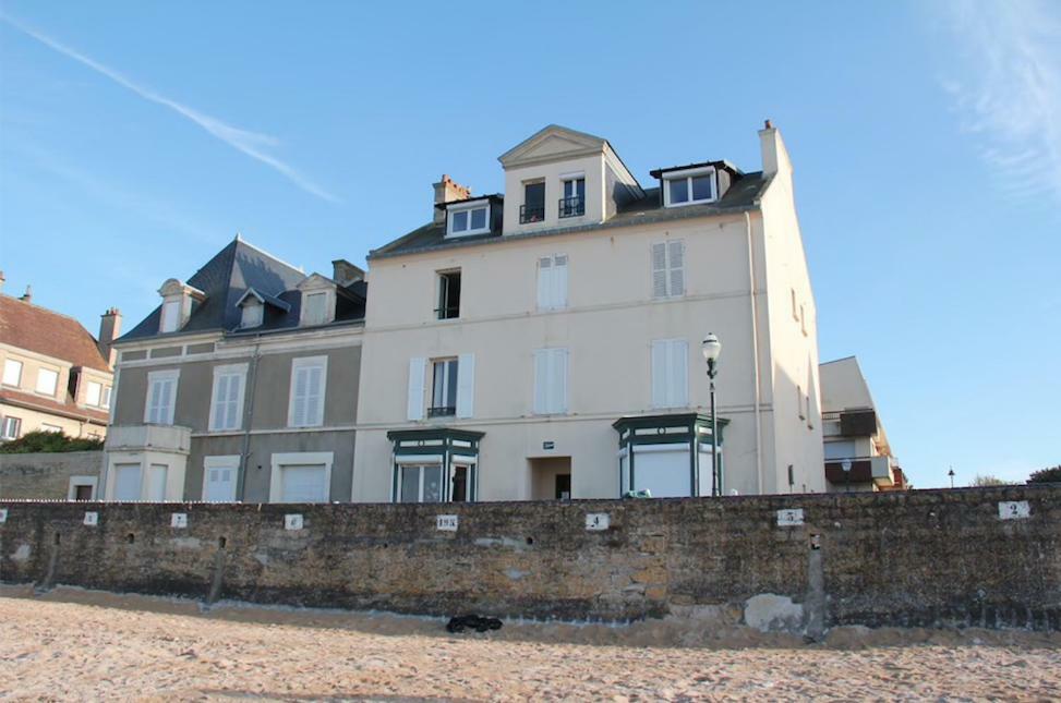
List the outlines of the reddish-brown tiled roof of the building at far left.
{"label": "reddish-brown tiled roof of the building at far left", "polygon": [[73,317],[0,295],[0,341],[99,371],[110,371],[96,338]]}

